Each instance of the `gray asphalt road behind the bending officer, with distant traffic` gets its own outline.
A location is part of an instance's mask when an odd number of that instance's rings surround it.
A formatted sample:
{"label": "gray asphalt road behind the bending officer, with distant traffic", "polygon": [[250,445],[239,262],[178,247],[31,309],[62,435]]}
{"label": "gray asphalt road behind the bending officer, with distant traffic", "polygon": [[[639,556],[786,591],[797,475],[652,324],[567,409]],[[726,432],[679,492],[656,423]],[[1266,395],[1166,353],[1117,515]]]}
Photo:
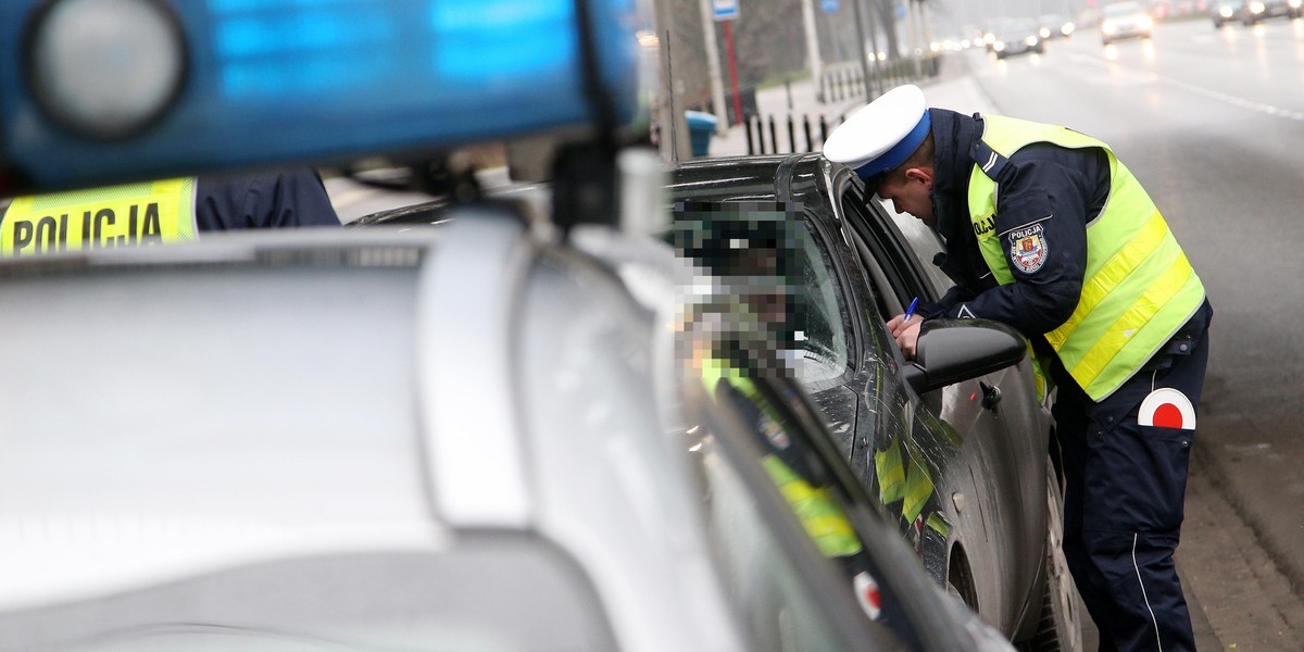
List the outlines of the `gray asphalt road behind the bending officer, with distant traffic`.
{"label": "gray asphalt road behind the bending officer, with distant traffic", "polygon": [[1304,649],[1304,21],[966,55],[998,113],[1114,146],[1214,305],[1179,566],[1224,649]]}

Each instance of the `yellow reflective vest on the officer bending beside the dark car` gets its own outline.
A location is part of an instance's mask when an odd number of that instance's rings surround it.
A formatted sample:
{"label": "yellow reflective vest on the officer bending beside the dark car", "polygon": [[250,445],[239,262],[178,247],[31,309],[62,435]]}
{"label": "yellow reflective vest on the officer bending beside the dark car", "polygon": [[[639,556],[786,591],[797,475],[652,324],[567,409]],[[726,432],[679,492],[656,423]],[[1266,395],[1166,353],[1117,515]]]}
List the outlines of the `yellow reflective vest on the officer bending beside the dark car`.
{"label": "yellow reflective vest on the officer bending beside the dark car", "polygon": [[[983,123],[982,142],[1007,159],[1034,142],[1101,147],[1108,156],[1110,196],[1101,215],[1086,226],[1082,295],[1068,321],[1046,334],[1086,395],[1102,400],[1200,309],[1205,287],[1159,209],[1108,145],[1064,126],[1003,116],[983,116]],[[1015,276],[1005,249],[1037,243],[1021,243],[1017,232],[991,228],[996,190],[983,162],[975,160],[969,177],[969,218],[987,267],[1000,284],[1008,284]]]}

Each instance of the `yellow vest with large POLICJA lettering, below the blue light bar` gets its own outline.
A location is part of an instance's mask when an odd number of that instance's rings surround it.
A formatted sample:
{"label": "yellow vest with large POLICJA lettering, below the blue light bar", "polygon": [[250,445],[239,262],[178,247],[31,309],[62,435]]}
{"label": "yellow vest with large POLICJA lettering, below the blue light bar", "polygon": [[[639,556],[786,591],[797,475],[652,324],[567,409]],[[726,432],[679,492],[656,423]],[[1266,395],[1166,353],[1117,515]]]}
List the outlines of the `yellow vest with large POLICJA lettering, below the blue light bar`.
{"label": "yellow vest with large POLICJA lettering, below the blue light bar", "polygon": [[194,240],[196,180],[18,197],[0,220],[0,256]]}

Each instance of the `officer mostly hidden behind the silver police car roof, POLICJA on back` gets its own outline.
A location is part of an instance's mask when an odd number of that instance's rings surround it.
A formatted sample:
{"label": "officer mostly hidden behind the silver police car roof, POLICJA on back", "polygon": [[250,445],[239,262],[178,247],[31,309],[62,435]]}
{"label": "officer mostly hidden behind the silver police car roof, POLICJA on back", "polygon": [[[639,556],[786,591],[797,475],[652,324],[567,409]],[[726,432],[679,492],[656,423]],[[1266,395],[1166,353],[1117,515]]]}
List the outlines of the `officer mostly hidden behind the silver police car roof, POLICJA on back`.
{"label": "officer mostly hidden behind the silver police car roof, POLICJA on back", "polygon": [[18,197],[0,209],[0,256],[189,241],[200,231],[339,226],[312,168],[186,177]]}

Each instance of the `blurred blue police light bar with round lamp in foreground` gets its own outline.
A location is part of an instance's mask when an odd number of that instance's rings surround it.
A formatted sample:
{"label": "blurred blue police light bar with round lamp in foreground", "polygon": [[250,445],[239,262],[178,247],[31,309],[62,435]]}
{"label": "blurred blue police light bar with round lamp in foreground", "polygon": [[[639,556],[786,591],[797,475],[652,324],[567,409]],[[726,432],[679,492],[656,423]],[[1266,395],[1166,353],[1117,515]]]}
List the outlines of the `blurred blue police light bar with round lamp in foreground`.
{"label": "blurred blue police light bar with round lamp in foreground", "polygon": [[627,124],[635,3],[5,0],[0,197]]}

